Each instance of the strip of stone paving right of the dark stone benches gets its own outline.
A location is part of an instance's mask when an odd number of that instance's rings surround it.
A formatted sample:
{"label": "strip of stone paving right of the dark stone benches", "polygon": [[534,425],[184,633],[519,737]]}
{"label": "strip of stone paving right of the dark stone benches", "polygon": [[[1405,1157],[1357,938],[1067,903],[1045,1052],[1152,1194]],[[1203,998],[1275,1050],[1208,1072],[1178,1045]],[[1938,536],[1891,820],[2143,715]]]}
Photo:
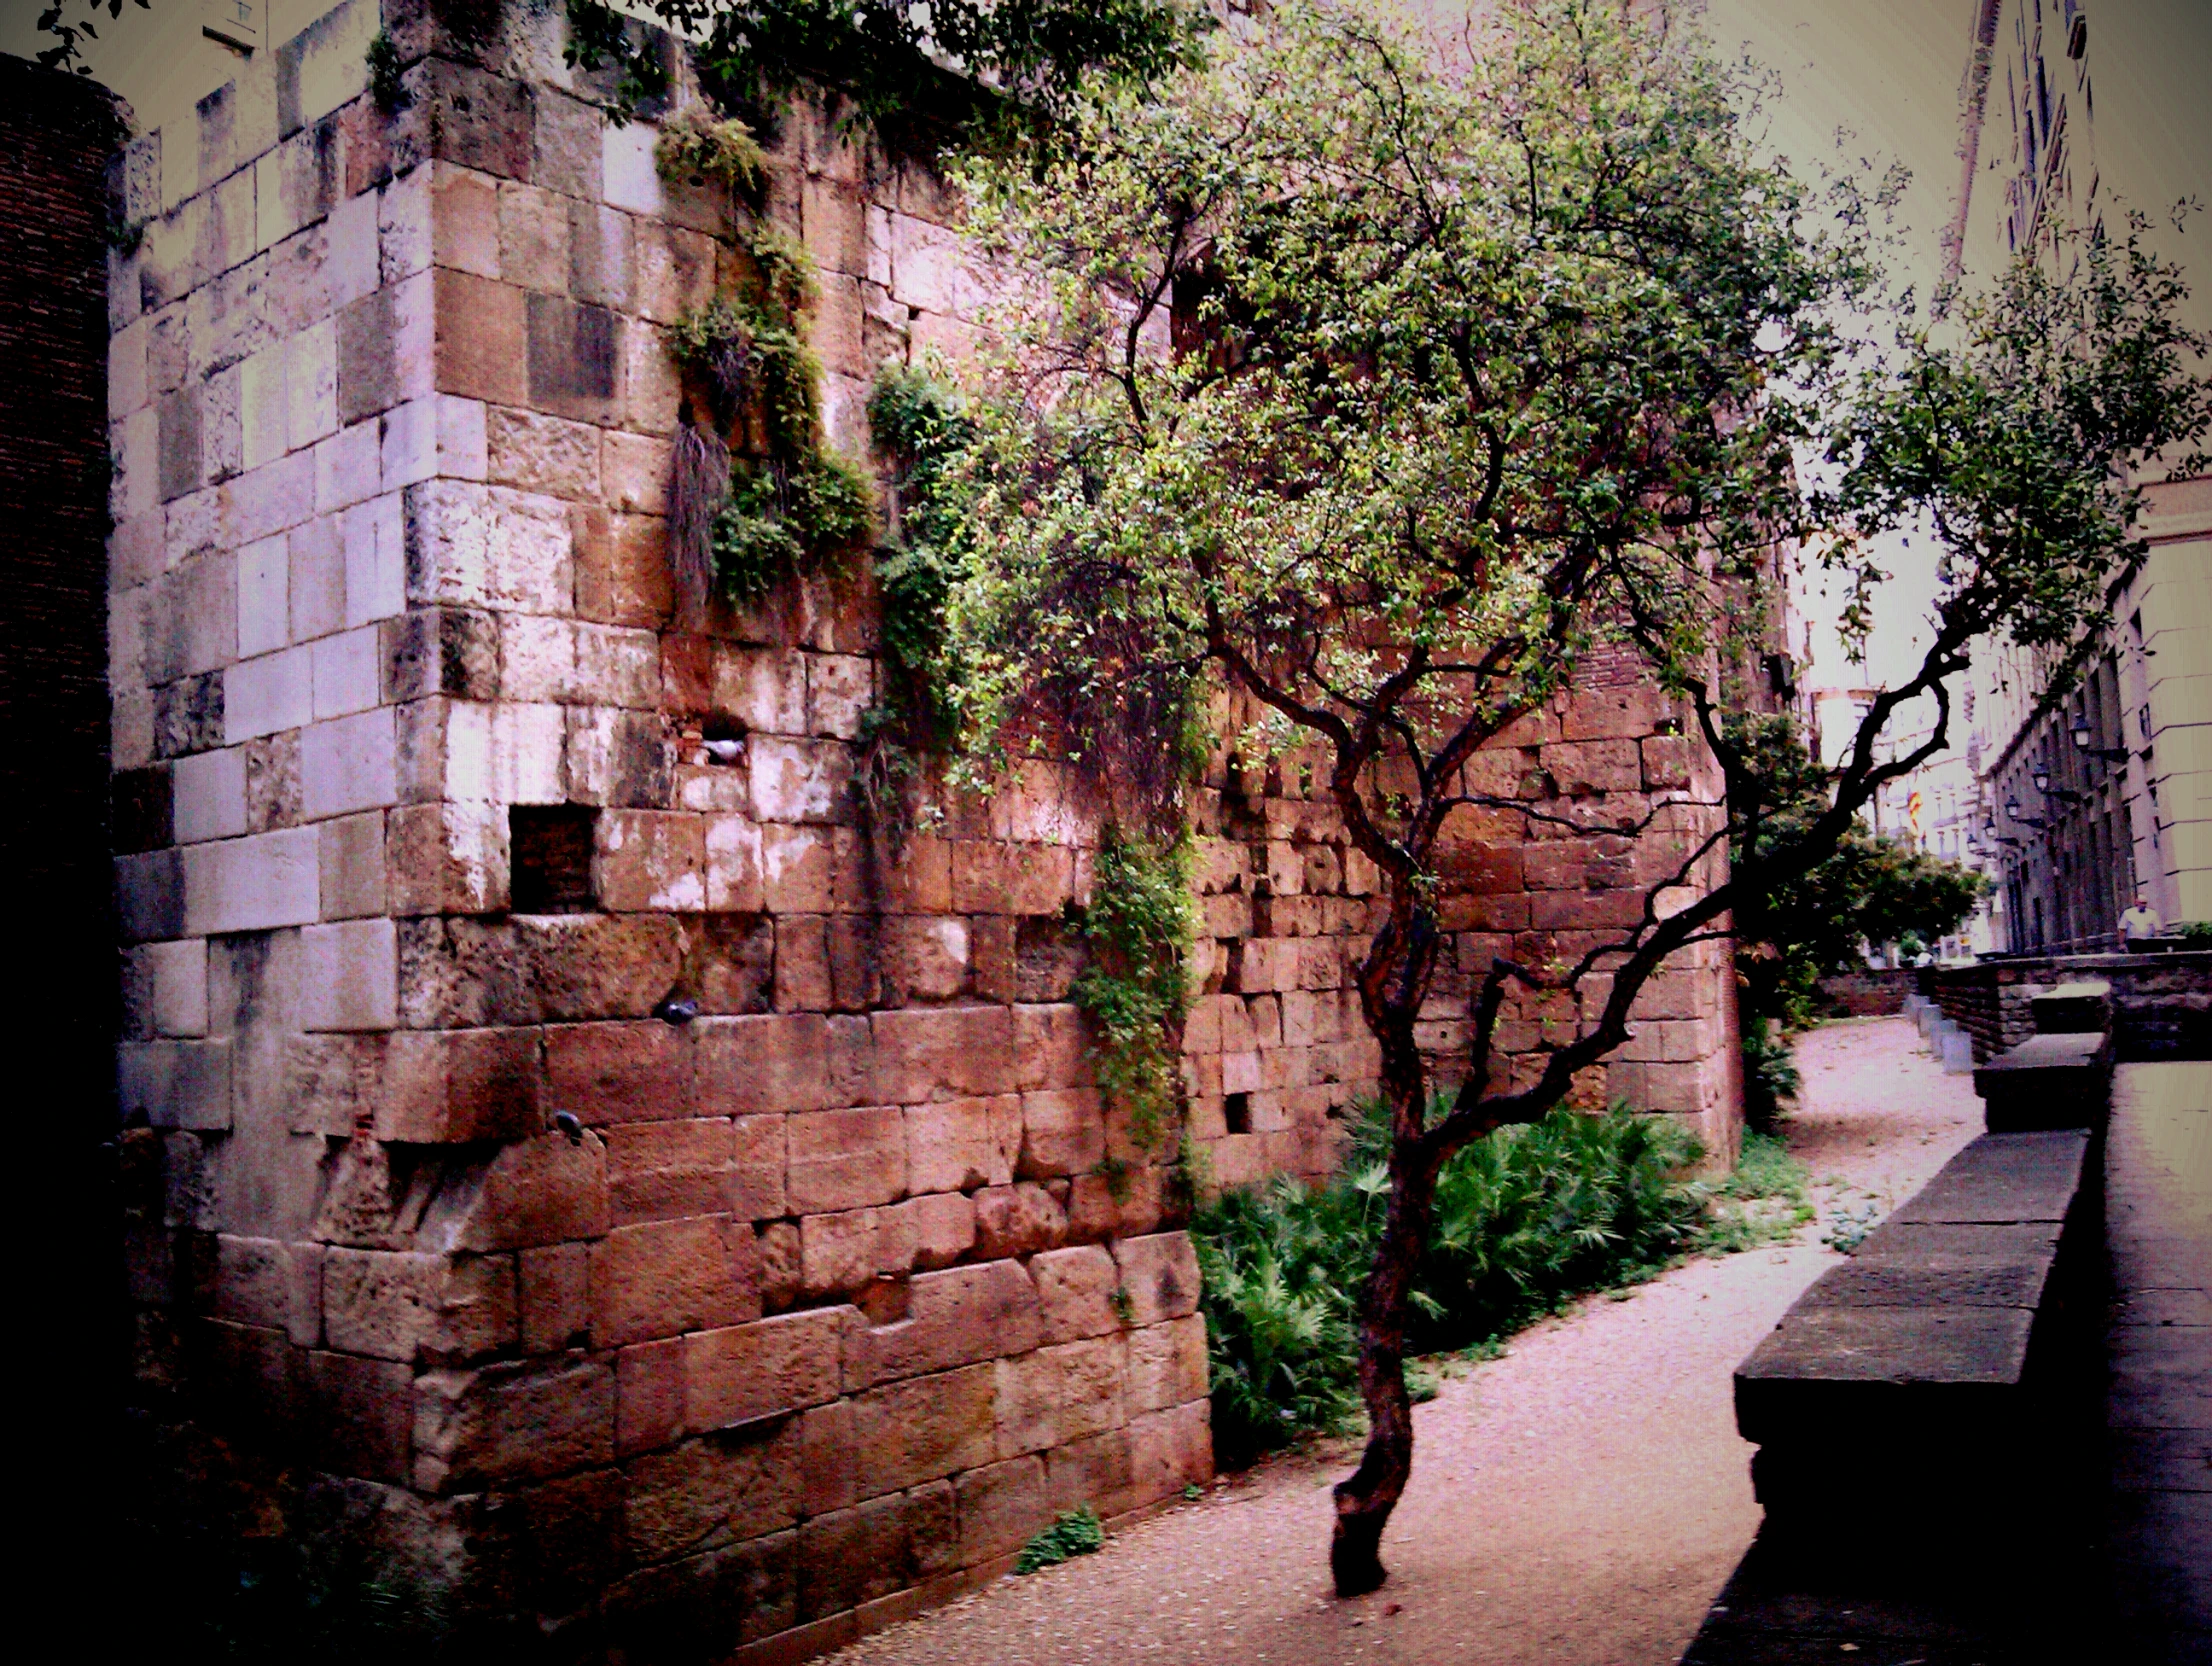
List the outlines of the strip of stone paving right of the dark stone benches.
{"label": "strip of stone paving right of the dark stone benches", "polygon": [[2121,1064],[2112,1266],[2112,1659],[2212,1662],[2212,1064]]}

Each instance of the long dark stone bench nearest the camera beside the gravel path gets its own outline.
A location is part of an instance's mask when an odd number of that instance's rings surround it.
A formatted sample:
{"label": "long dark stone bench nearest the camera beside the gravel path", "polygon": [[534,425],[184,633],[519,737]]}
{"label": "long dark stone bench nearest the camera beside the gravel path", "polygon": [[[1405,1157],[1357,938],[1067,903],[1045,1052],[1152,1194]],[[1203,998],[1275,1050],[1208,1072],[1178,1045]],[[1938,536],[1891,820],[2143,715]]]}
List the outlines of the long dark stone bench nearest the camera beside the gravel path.
{"label": "long dark stone bench nearest the camera beside the gravel path", "polygon": [[2090,1157],[2088,1131],[1978,1137],[1752,1350],[1736,1427],[1770,1524],[1818,1529],[1840,1491],[1995,1507],[2033,1489],[2093,1305]]}

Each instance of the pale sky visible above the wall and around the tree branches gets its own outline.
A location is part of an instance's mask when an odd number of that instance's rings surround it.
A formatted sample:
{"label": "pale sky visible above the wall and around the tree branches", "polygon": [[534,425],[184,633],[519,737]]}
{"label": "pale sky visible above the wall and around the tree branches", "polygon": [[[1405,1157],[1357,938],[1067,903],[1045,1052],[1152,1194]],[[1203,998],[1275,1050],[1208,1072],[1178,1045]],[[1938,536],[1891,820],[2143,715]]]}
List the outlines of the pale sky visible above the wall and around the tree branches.
{"label": "pale sky visible above the wall and around the tree branches", "polygon": [[[1688,0],[1728,55],[1750,53],[1781,77],[1781,97],[1761,122],[1761,142],[1787,157],[1801,177],[1816,164],[1867,159],[1878,173],[1902,162],[1911,188],[1900,206],[1905,268],[1927,296],[1940,268],[1938,232],[1958,190],[1958,97],[1966,69],[1973,0]],[[0,51],[29,55],[44,0],[0,0]],[[71,13],[84,0],[66,0]],[[237,73],[237,58],[199,33],[204,0],[150,0],[126,9],[91,49],[95,73],[122,93],[142,128],[161,126]],[[283,42],[330,0],[261,0],[265,40]],[[1436,15],[1451,0],[1416,0]],[[2212,208],[2212,0],[2088,0],[2088,62],[2097,80],[2097,159],[2108,181],[2146,208],[2197,195]],[[2002,86],[1997,91],[2002,97]],[[2002,124],[2002,106],[1991,104]],[[1838,148],[1838,131],[1849,137]],[[1984,146],[2004,150],[1995,137]],[[1986,168],[1982,181],[1993,181]],[[2000,186],[2002,188],[2002,186]],[[1986,197],[1989,192],[1984,192]],[[2203,281],[2190,323],[2212,330],[2212,217],[2183,235],[2163,232],[2163,248],[2201,265]],[[1995,243],[1978,215],[1969,230],[1969,283],[1986,277]],[[1975,259],[1980,257],[1980,261]],[[1814,659],[1805,686],[1869,686],[1902,679],[1918,664],[1918,626],[1933,595],[1933,549],[1889,546],[1876,635],[1865,666],[1845,659],[1832,597],[1814,582],[1798,600],[1814,622]],[[1803,650],[1803,642],[1792,648]]]}

